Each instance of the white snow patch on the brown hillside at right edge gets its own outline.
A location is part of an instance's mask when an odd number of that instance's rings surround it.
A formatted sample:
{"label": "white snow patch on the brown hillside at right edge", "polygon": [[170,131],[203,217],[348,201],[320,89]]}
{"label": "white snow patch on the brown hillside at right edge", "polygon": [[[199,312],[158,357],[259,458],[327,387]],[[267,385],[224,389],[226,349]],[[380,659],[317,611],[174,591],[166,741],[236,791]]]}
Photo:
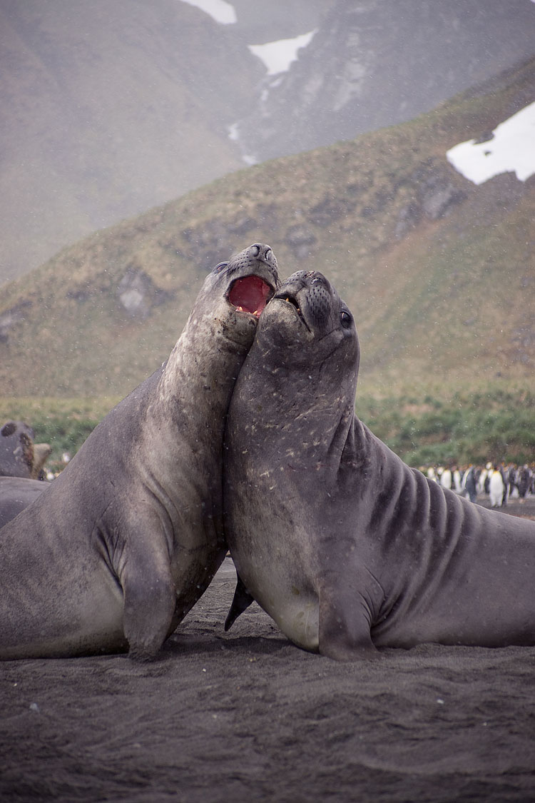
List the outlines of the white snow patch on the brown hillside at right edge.
{"label": "white snow patch on the brown hillside at right edge", "polygon": [[474,184],[499,173],[516,173],[525,181],[535,173],[535,103],[504,120],[484,141],[460,142],[446,157]]}

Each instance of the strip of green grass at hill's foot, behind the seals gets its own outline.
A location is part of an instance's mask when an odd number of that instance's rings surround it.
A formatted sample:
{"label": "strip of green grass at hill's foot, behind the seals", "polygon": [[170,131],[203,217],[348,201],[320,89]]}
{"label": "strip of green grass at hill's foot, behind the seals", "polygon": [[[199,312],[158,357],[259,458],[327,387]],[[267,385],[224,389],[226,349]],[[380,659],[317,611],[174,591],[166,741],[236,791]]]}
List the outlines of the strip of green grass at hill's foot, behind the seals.
{"label": "strip of green grass at hill's foot, behind the seals", "polygon": [[[35,442],[52,446],[47,465],[58,470],[119,398],[2,398],[0,422],[31,422]],[[359,418],[411,466],[470,462],[532,463],[535,456],[535,393],[521,385],[488,383],[433,395],[413,388],[403,395],[359,394]]]}

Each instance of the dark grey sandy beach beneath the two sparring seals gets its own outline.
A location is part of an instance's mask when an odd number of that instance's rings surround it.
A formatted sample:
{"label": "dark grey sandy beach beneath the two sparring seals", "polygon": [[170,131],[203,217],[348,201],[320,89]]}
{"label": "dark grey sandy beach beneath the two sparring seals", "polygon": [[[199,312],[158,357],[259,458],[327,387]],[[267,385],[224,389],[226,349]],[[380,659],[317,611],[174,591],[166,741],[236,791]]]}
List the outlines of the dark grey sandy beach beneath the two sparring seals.
{"label": "dark grey sandy beach beneath the two sparring seals", "polygon": [[535,801],[535,647],[339,664],[257,605],[225,634],[234,582],[154,662],[0,664],[0,800]]}

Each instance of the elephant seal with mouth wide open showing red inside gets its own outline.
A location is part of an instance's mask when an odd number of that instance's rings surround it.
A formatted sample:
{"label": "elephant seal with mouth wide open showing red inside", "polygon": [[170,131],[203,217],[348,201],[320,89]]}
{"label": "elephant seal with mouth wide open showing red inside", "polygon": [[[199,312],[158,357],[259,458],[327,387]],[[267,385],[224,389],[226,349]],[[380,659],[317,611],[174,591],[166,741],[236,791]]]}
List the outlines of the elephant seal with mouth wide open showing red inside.
{"label": "elephant seal with mouth wide open showing red inside", "polygon": [[0,531],[0,658],[150,658],[221,564],[233,385],[278,286],[255,244],[205,279],[168,361]]}

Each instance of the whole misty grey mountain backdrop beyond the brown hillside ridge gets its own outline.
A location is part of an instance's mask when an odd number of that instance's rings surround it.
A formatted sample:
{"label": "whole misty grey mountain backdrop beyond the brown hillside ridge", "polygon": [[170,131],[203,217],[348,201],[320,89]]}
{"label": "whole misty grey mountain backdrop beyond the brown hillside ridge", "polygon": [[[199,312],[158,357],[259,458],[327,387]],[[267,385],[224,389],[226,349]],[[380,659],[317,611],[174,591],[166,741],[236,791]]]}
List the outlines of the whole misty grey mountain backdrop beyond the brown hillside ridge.
{"label": "whole misty grey mountain backdrop beyond the brown hillside ridge", "polygon": [[[0,284],[244,154],[408,120],[533,52],[529,0],[233,8],[225,25],[181,0],[0,0]],[[310,31],[281,75],[249,51]]]}

